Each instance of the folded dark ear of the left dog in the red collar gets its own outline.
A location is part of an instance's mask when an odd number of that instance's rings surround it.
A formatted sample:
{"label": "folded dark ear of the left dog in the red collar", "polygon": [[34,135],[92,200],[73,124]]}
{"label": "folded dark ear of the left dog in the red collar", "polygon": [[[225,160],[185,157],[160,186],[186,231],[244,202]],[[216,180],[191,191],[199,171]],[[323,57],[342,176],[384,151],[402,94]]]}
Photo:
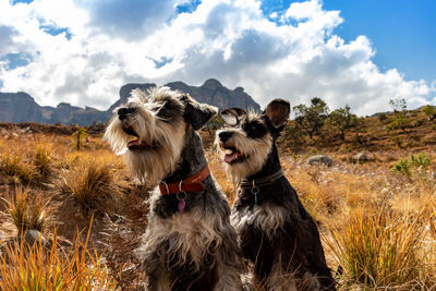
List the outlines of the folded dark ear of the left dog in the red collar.
{"label": "folded dark ear of the left dog in the red collar", "polygon": [[192,125],[194,130],[199,130],[209,119],[211,119],[218,109],[207,104],[195,101],[190,95],[184,94],[181,97],[184,104],[184,119]]}

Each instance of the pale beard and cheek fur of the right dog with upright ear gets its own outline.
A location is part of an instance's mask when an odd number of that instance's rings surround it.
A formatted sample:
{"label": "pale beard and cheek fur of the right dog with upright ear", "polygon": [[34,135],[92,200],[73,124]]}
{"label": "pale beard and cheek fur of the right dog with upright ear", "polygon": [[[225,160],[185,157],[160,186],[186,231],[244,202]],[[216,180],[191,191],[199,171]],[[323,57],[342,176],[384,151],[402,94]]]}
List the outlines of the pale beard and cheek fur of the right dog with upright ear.
{"label": "pale beard and cheek fur of the right dog with upright ear", "polygon": [[[235,149],[241,153],[244,159],[241,162],[226,163],[226,172],[231,177],[234,185],[238,185],[243,178],[258,172],[265,165],[265,161],[271,150],[272,137],[267,134],[263,138],[253,140],[246,137],[241,132],[233,132],[231,141]],[[216,148],[223,157],[225,149],[219,145],[219,138],[216,140]]]}

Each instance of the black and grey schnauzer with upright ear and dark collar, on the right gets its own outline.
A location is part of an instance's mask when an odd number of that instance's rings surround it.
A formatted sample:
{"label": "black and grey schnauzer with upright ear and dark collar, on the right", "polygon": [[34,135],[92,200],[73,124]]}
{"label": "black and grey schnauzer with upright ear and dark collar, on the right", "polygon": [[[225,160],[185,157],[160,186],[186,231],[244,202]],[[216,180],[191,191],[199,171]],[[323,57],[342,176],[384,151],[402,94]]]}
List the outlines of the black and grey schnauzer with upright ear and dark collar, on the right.
{"label": "black and grey schnauzer with upright ear and dark collar, on the right", "polygon": [[290,105],[272,100],[262,114],[223,110],[216,144],[239,186],[231,221],[253,284],[266,290],[336,290],[317,227],[281,170],[276,140]]}

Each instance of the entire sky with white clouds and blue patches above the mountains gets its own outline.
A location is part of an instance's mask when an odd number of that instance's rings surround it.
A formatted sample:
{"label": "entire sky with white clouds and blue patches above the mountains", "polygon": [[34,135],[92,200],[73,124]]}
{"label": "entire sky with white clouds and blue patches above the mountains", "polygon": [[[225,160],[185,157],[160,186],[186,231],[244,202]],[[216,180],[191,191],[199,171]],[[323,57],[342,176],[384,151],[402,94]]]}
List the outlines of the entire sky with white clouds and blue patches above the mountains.
{"label": "entire sky with white clouds and blue patches above the mountains", "polygon": [[0,92],[106,110],[126,83],[217,78],[265,107],[436,105],[434,0],[0,0]]}

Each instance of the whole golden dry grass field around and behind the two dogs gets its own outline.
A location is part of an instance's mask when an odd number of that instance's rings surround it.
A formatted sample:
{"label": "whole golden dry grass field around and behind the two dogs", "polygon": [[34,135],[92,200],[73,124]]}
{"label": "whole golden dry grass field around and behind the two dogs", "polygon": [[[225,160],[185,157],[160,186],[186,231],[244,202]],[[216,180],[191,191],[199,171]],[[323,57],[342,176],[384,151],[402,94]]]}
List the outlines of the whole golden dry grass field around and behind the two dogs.
{"label": "whole golden dry grass field around and behind the two dogs", "polygon": [[[326,133],[293,150],[295,141],[283,134],[284,173],[318,223],[339,290],[436,290],[436,130],[425,123],[395,133],[413,141],[402,147],[382,121],[367,122],[366,145],[352,142],[352,133],[346,143],[328,142]],[[235,190],[213,137],[202,136],[232,203]],[[133,251],[147,223],[150,185],[135,184],[101,134],[87,136],[81,149],[72,143],[70,134],[0,129],[0,290],[141,290]],[[362,150],[370,161],[349,161]],[[308,166],[313,154],[330,156],[334,166]],[[400,159],[408,161],[395,171]],[[25,243],[27,229],[47,242]]]}

